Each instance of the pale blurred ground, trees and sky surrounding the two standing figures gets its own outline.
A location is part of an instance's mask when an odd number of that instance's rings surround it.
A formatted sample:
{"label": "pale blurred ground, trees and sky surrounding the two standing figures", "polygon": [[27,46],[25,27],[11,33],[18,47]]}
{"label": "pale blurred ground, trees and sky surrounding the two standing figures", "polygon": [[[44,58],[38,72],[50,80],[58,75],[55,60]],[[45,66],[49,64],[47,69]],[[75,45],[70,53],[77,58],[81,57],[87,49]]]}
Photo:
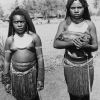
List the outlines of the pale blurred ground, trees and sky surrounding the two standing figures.
{"label": "pale blurred ground, trees and sky surrounding the two standing figures", "polygon": [[[99,49],[94,56],[94,84],[91,100],[100,100],[100,0],[87,0],[91,19],[97,29]],[[0,0],[0,57],[4,58],[4,45],[8,34],[10,13],[21,6],[26,9],[42,40],[45,64],[45,88],[40,95],[42,100],[69,100],[63,73],[64,50],[53,48],[53,41],[59,23],[64,20],[67,0]],[[1,58],[0,58],[1,59]],[[0,60],[0,63],[4,59]],[[0,100],[15,100],[5,92],[1,83],[3,66],[0,66]]]}

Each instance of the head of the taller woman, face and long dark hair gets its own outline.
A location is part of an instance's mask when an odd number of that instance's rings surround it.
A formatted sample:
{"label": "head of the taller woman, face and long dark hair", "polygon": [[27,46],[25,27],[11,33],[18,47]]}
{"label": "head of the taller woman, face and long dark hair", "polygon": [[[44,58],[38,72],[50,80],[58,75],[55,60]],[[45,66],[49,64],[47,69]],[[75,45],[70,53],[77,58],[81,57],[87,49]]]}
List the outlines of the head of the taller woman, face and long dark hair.
{"label": "head of the taller woman, face and long dark hair", "polygon": [[85,20],[90,20],[90,14],[88,10],[88,4],[86,0],[68,0],[66,5],[66,18],[83,18]]}

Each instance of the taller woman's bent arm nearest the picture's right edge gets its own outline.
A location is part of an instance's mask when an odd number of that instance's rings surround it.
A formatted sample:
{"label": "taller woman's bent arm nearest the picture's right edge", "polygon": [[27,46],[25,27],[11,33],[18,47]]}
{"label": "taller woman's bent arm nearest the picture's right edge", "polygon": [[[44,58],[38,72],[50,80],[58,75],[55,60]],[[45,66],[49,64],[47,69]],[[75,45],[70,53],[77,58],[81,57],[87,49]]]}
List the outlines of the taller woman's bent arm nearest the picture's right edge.
{"label": "taller woman's bent arm nearest the picture's right edge", "polygon": [[89,32],[91,35],[91,44],[84,44],[82,48],[94,52],[98,50],[98,39],[97,39],[97,32],[96,32],[96,27],[92,21],[88,22],[89,24]]}

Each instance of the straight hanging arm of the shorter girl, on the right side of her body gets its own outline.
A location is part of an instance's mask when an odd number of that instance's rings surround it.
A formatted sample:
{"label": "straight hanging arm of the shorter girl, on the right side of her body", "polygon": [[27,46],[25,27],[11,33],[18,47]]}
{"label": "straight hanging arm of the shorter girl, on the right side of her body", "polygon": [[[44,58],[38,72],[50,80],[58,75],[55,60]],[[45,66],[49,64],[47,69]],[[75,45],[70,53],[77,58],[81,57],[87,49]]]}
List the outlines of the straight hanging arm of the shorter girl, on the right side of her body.
{"label": "straight hanging arm of the shorter girl, on the right side of her body", "polygon": [[35,36],[35,48],[38,60],[37,88],[38,90],[41,90],[44,87],[44,60],[43,60],[41,39],[37,34]]}

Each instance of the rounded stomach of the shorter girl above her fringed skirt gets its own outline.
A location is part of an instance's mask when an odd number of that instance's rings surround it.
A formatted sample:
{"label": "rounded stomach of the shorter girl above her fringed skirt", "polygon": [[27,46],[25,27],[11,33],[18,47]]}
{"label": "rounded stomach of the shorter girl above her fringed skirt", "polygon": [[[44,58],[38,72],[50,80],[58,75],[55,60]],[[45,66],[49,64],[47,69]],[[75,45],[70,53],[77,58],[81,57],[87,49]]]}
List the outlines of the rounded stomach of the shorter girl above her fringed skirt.
{"label": "rounded stomach of the shorter girl above her fringed skirt", "polygon": [[13,68],[16,71],[27,71],[36,65],[36,53],[29,50],[18,50],[12,55]]}

